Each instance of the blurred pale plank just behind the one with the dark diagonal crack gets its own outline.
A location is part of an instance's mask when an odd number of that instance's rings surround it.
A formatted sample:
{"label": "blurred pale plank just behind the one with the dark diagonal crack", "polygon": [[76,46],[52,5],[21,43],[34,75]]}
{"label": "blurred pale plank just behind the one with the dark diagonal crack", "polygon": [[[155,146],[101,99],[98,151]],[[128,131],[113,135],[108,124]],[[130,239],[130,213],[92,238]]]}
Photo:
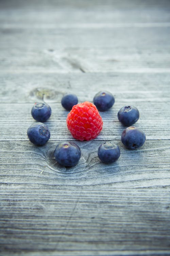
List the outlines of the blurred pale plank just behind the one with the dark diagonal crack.
{"label": "blurred pale plank just behind the one with the dark diagonal crack", "polygon": [[169,48],[170,27],[144,28],[66,28],[66,29],[0,29],[1,47],[54,49],[57,47],[140,47]]}

